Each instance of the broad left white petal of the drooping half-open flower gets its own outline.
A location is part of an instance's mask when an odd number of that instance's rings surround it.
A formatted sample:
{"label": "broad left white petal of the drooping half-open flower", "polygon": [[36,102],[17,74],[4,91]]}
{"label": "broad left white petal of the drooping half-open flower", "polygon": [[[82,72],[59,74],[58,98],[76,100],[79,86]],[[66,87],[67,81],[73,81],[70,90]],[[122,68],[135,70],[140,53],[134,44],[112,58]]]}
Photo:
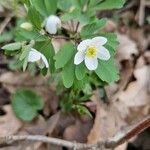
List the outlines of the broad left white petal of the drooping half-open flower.
{"label": "broad left white petal of the drooping half-open flower", "polygon": [[35,50],[34,48],[31,48],[31,51],[29,52],[28,56],[28,62],[35,62],[40,60],[41,58],[41,53]]}

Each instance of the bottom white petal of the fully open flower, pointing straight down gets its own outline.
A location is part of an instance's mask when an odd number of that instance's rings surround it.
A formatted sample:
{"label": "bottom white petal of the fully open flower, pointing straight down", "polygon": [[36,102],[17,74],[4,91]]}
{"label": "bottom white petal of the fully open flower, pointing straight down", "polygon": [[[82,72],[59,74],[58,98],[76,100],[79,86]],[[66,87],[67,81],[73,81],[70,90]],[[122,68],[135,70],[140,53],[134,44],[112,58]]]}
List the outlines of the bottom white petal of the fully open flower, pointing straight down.
{"label": "bottom white petal of the fully open flower, pointing straight down", "polygon": [[85,65],[89,70],[96,70],[98,67],[98,60],[96,57],[85,57]]}

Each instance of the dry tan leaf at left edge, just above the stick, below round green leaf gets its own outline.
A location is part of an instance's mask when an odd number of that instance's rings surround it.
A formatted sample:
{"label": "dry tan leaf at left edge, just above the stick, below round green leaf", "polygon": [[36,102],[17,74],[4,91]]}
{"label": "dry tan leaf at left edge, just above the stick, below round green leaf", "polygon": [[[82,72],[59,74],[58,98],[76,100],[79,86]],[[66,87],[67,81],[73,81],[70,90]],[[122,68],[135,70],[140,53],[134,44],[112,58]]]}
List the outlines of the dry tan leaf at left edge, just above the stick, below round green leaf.
{"label": "dry tan leaf at left edge, just above the stick, below round green leaf", "polygon": [[15,117],[10,105],[5,105],[3,108],[6,114],[0,116],[0,135],[15,134],[21,128],[22,122]]}

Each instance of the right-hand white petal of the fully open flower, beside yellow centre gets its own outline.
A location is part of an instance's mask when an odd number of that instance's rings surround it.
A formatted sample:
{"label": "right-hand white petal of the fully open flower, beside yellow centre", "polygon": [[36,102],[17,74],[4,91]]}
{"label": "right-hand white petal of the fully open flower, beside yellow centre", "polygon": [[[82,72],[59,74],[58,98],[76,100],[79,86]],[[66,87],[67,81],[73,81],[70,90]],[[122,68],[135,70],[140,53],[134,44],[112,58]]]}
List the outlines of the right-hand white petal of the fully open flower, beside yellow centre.
{"label": "right-hand white petal of the fully open flower, beside yellow centre", "polygon": [[110,53],[105,47],[101,46],[98,49],[97,57],[102,60],[108,60],[110,58]]}

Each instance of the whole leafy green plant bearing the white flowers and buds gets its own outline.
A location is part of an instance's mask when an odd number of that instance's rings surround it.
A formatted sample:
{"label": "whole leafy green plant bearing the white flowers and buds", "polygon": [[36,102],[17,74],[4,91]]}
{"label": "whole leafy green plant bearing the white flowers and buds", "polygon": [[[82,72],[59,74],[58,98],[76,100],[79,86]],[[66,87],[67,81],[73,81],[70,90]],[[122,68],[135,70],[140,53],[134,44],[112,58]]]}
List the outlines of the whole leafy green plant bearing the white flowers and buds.
{"label": "whole leafy green plant bearing the white flowers and buds", "polygon": [[[63,110],[90,114],[82,103],[90,99],[93,90],[119,79],[114,63],[117,36],[100,31],[107,19],[97,18],[96,12],[121,8],[125,0],[22,0],[22,3],[27,18],[18,21],[15,42],[2,47],[5,54],[17,56],[23,71],[28,63],[36,63],[43,75],[50,75]],[[66,41],[57,53],[53,39]],[[18,114],[21,110],[17,111],[17,99],[13,108]],[[25,116],[24,120],[32,118]]]}

